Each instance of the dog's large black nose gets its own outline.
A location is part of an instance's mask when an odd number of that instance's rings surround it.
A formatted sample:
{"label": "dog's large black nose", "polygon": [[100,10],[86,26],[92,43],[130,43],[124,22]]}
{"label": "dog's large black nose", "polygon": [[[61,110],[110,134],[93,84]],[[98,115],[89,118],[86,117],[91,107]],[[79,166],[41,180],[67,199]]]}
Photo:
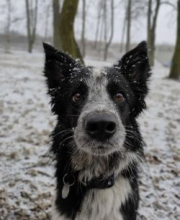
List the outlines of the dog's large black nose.
{"label": "dog's large black nose", "polygon": [[116,119],[110,114],[93,114],[85,120],[86,132],[94,139],[105,141],[116,131]]}

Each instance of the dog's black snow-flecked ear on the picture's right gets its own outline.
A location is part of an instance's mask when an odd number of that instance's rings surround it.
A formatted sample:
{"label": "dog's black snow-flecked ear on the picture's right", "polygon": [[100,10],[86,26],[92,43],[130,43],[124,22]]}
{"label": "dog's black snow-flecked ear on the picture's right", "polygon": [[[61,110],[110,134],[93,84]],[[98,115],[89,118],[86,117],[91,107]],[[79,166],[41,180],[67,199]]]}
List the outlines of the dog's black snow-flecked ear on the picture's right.
{"label": "dog's black snow-flecked ear on the picture's right", "polygon": [[147,44],[141,42],[136,48],[127,52],[115,68],[131,83],[145,82],[150,76]]}

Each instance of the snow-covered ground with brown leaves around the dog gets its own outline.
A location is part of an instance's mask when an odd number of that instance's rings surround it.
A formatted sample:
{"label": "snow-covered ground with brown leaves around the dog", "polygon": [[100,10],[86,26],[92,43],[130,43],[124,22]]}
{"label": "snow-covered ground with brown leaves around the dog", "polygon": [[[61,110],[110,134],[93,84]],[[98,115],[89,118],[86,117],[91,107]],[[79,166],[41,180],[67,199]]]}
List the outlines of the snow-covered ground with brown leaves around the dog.
{"label": "snow-covered ground with brown leaves around the dog", "polygon": [[[87,61],[90,65],[102,65]],[[55,124],[43,55],[0,53],[0,219],[48,219],[55,179],[48,154]],[[180,82],[156,65],[139,122],[147,146],[140,174],[141,220],[180,219]]]}

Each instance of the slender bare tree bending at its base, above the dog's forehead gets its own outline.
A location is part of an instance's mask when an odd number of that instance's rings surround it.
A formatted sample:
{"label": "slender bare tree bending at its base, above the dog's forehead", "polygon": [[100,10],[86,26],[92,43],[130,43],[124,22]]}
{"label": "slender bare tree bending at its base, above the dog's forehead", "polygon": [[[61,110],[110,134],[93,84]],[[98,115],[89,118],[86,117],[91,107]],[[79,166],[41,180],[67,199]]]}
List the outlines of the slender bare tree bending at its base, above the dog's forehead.
{"label": "slender bare tree bending at its base, above the dog's forehead", "polygon": [[[106,7],[104,10],[106,10]],[[107,32],[107,28],[105,29],[105,31]],[[107,35],[105,35],[104,60],[107,59],[108,49],[112,42],[113,34],[114,34],[114,0],[111,0],[111,33],[108,41],[107,41]]]}

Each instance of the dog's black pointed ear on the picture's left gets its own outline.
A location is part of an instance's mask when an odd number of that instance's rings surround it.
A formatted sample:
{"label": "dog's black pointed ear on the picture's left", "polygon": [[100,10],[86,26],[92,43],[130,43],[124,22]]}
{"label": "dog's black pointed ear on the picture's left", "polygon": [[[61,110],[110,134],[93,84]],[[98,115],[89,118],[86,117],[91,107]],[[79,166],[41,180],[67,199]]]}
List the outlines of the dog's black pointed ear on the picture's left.
{"label": "dog's black pointed ear on the picture's left", "polygon": [[43,43],[45,52],[44,74],[49,89],[57,88],[65,79],[70,77],[77,62],[68,54],[56,50],[49,44]]}

